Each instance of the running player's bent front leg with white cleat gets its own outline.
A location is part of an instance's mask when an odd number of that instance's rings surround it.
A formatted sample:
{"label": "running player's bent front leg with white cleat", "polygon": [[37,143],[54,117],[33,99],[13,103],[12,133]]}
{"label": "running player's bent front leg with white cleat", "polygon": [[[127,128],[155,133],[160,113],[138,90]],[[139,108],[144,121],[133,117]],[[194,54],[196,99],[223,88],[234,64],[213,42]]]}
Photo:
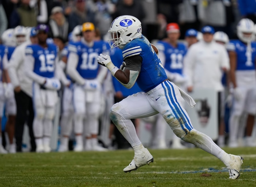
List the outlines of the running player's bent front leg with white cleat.
{"label": "running player's bent front leg with white cleat", "polygon": [[134,159],[124,168],[124,172],[130,172],[153,162],[153,156],[140,142],[135,126],[130,119],[152,116],[158,112],[150,105],[146,98],[147,93],[136,93],[114,104],[110,109],[110,119],[117,129],[131,144],[134,150]]}

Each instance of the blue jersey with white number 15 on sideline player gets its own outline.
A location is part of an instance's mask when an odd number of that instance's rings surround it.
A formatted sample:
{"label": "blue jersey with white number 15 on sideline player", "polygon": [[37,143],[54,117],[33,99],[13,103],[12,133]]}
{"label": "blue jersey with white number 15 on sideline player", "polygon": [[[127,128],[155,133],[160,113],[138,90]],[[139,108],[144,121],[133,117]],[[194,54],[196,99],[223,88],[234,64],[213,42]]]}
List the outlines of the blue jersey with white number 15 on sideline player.
{"label": "blue jersey with white number 15 on sideline player", "polygon": [[54,77],[55,60],[58,55],[58,49],[55,44],[48,44],[43,48],[38,44],[29,45],[25,50],[26,55],[32,55],[35,59],[34,73],[47,78]]}

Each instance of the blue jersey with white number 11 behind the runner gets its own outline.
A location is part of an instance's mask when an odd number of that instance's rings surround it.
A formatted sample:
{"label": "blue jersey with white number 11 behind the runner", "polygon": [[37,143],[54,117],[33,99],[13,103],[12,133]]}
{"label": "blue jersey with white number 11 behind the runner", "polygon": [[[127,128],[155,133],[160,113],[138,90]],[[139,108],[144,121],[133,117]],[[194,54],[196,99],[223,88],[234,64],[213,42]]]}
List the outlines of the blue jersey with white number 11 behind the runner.
{"label": "blue jersey with white number 11 behind the runner", "polygon": [[177,43],[177,47],[173,47],[167,42],[159,41],[157,43],[159,51],[165,54],[165,66],[167,71],[182,74],[183,58],[187,53],[187,47],[183,43]]}

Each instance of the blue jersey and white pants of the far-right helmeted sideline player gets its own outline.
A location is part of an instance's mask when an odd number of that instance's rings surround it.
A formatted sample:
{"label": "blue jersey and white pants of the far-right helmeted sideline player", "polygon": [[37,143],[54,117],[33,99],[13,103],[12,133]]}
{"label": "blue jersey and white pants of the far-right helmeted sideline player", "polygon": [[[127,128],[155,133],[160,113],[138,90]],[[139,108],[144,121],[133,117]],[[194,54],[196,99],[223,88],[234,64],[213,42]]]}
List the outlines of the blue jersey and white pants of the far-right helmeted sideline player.
{"label": "blue jersey and white pants of the far-right helmeted sideline player", "polygon": [[240,40],[231,40],[227,50],[236,53],[236,84],[241,93],[240,100],[234,100],[232,113],[241,115],[242,112],[256,114],[256,42],[251,46]]}

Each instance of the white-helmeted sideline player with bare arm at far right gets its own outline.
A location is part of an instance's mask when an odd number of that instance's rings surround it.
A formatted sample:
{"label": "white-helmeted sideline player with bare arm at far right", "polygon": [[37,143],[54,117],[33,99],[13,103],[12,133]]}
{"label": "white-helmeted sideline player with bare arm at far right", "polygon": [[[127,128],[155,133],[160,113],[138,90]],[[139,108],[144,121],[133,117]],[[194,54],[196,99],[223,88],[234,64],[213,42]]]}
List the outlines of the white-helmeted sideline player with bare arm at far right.
{"label": "white-helmeted sideline player with bare arm at far right", "polygon": [[243,112],[248,114],[246,122],[246,146],[255,147],[252,129],[256,114],[256,43],[254,23],[241,19],[237,24],[239,40],[227,44],[230,57],[230,81],[234,100],[229,119],[229,147],[238,147],[238,128]]}

